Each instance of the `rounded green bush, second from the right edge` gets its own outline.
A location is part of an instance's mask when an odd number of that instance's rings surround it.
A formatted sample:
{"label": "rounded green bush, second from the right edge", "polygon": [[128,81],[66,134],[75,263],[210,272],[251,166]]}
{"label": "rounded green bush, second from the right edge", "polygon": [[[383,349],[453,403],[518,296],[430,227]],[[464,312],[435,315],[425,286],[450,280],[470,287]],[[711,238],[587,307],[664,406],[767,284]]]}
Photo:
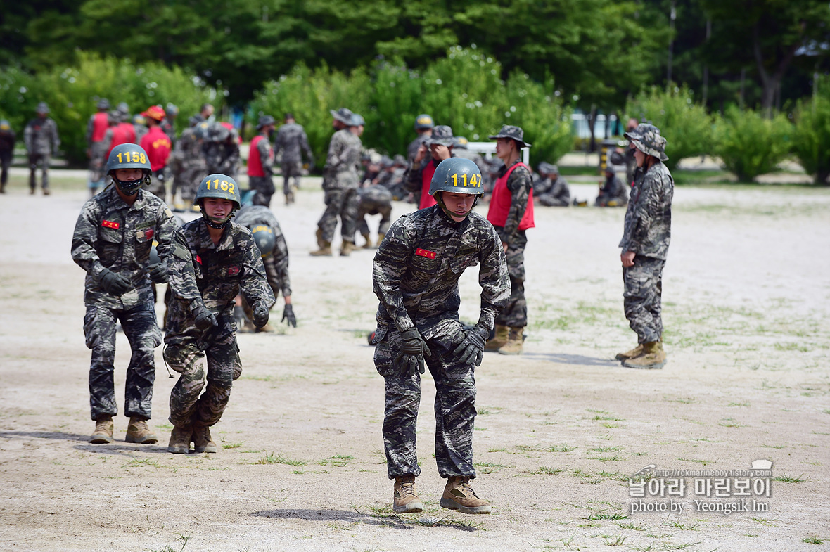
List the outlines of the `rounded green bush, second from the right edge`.
{"label": "rounded green bush, second from the right edge", "polygon": [[739,182],[772,173],[789,154],[793,125],[784,115],[765,119],[754,111],[727,110],[715,125],[715,154]]}

